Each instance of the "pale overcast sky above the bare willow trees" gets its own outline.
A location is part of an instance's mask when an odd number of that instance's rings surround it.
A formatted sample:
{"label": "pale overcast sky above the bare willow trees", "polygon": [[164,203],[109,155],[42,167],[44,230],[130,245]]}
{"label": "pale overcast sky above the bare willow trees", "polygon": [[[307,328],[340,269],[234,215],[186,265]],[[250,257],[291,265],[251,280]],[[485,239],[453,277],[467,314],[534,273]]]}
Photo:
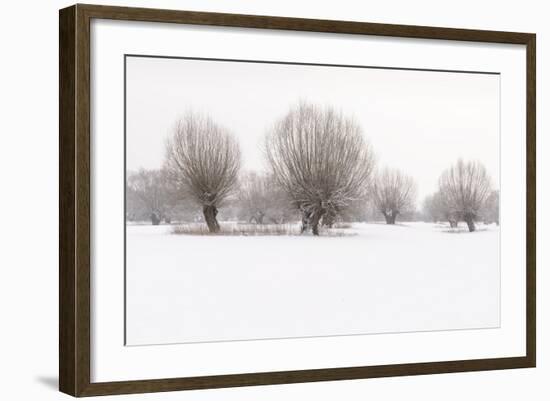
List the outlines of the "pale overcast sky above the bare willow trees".
{"label": "pale overcast sky above the bare willow trees", "polygon": [[165,138],[187,110],[238,138],[243,168],[264,169],[266,129],[300,100],[353,116],[378,166],[413,176],[418,203],[459,157],[499,182],[498,75],[229,61],[126,59],[127,169],[160,168]]}

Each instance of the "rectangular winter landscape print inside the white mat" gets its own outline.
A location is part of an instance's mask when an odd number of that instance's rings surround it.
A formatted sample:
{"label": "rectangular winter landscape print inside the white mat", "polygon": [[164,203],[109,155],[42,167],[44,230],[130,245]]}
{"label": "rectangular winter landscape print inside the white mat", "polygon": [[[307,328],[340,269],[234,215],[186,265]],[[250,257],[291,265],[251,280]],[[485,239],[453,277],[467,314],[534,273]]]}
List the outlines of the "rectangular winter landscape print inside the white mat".
{"label": "rectangular winter landscape print inside the white mat", "polygon": [[500,327],[500,75],[125,56],[125,345]]}

